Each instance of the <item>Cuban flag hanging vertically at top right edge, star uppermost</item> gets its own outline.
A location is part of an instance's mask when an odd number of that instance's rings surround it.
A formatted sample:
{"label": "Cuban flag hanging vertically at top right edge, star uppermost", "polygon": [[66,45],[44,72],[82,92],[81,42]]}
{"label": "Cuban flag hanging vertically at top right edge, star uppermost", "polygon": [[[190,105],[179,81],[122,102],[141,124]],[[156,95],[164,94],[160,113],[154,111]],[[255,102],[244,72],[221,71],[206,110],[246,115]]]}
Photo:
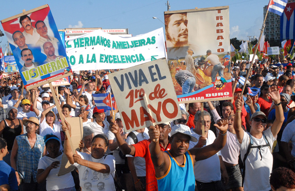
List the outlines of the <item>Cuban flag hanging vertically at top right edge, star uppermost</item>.
{"label": "Cuban flag hanging vertically at top right edge, star uppermost", "polygon": [[295,37],[294,8],[295,2],[288,3],[283,14],[281,15],[281,41],[283,39],[294,39]]}

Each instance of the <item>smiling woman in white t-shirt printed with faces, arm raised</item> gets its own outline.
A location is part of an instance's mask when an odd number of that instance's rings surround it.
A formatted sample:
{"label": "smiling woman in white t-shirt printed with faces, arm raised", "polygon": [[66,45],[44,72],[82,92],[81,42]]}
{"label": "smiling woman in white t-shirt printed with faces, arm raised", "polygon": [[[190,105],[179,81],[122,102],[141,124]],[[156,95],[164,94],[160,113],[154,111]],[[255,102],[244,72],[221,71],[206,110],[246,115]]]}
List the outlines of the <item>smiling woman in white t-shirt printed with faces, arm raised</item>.
{"label": "smiling woman in white t-shirt printed with faces, arm raised", "polygon": [[[62,126],[62,129],[68,130],[71,135],[71,126],[66,121],[65,123],[66,125]],[[90,155],[77,151],[74,154],[68,138],[65,138],[64,153],[69,162],[79,170],[82,191],[116,191],[113,178],[115,175],[115,157],[105,155],[108,144],[109,141],[105,135],[97,134],[92,139]]]}

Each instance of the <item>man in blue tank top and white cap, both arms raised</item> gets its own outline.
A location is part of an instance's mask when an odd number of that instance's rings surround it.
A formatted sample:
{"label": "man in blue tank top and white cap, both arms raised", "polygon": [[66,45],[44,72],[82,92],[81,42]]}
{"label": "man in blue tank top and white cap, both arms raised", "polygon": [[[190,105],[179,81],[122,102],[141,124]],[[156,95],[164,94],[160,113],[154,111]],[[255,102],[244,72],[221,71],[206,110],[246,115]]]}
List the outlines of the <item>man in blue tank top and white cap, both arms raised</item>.
{"label": "man in blue tank top and white cap, both arms raised", "polygon": [[[148,134],[152,140],[149,152],[155,169],[159,191],[194,191],[194,161],[208,159],[220,151],[226,144],[228,120],[220,120],[214,124],[220,130],[215,141],[203,148],[188,150],[189,142],[197,142],[191,135],[190,128],[176,125],[171,130],[171,149],[161,151],[157,143],[160,138],[159,127],[150,126]],[[177,179],[175,178],[177,177]]]}

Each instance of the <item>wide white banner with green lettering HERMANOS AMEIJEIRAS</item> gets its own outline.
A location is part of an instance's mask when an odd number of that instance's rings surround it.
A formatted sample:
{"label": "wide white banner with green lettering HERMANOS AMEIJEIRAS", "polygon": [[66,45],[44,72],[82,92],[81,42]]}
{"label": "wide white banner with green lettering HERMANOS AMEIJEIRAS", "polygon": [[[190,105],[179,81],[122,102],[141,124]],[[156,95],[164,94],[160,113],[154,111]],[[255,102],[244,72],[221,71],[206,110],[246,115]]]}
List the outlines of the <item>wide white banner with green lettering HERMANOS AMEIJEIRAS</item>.
{"label": "wide white banner with green lettering HERMANOS AMEIJEIRAS", "polygon": [[73,70],[123,69],[166,57],[163,29],[134,37],[101,30],[65,39]]}

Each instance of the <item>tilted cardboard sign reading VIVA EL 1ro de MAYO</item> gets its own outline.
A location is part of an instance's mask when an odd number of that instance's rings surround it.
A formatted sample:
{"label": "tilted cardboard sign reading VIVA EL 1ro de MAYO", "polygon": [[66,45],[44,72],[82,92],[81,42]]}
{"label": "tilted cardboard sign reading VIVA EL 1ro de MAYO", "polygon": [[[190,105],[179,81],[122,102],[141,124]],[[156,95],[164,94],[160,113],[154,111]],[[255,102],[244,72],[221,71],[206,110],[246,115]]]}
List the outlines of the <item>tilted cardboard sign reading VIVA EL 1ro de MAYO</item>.
{"label": "tilted cardboard sign reading VIVA EL 1ro de MAYO", "polygon": [[181,118],[165,58],[108,76],[125,132]]}

